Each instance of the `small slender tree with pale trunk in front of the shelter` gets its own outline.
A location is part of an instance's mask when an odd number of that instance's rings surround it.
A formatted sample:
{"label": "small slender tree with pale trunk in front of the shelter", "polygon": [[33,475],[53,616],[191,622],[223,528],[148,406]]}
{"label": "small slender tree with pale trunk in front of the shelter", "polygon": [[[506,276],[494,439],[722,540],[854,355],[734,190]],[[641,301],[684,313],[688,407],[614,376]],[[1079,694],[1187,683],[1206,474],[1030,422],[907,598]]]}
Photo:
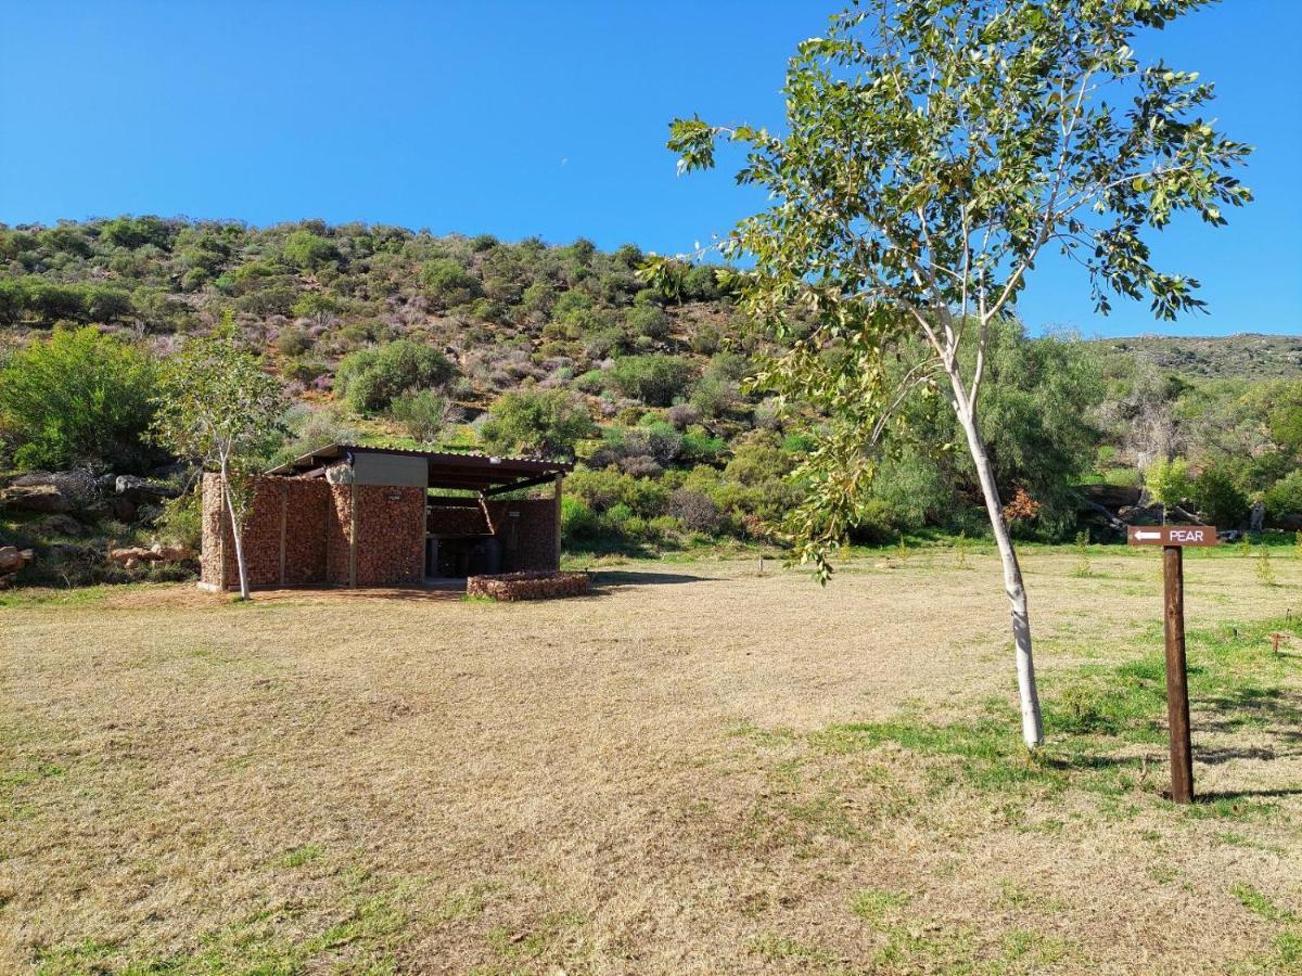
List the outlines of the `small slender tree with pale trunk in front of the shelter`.
{"label": "small slender tree with pale trunk in front of the shelter", "polygon": [[249,599],[243,526],[253,502],[249,475],[279,445],[285,409],[280,381],[262,358],[245,350],[227,316],[211,334],[191,338],[163,364],[154,436],[180,457],[221,476],[240,570],[240,597]]}

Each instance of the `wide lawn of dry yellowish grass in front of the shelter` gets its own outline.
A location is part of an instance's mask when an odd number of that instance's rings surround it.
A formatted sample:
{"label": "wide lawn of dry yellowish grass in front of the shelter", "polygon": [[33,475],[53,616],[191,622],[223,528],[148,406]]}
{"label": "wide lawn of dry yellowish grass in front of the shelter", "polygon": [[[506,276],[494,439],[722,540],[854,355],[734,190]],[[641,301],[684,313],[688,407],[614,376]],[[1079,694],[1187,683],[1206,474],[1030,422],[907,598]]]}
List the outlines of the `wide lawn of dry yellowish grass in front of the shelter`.
{"label": "wide lawn of dry yellowish grass in front of the shelter", "polygon": [[1242,625],[1226,673],[1258,682],[1200,700],[1193,811],[1151,729],[1086,727],[1157,645],[1156,556],[1027,558],[1051,718],[1079,726],[1036,764],[995,561],[887,565],[0,606],[0,968],[1302,967],[1302,668],[1247,626],[1302,565],[1189,561],[1191,631]]}

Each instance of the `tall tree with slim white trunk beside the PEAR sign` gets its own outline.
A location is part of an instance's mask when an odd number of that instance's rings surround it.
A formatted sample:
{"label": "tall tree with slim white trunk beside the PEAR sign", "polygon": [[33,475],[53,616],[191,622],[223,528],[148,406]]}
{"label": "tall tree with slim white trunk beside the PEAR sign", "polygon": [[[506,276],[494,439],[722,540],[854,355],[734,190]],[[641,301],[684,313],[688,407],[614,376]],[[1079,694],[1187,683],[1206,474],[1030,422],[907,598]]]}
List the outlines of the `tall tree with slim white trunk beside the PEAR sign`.
{"label": "tall tree with slim white trunk beside the PEAR sign", "polygon": [[[1029,747],[1043,726],[1026,590],[976,420],[986,349],[1047,247],[1083,267],[1100,312],[1109,294],[1148,298],[1164,319],[1202,307],[1198,282],[1155,268],[1144,237],[1178,211],[1224,224],[1223,207],[1251,199],[1230,176],[1249,147],[1198,115],[1211,85],[1142,64],[1131,42],[1204,1],[865,0],[798,47],[783,134],[671,126],[681,172],[742,143],[738,182],[772,202],[721,250],[749,258],[743,305],[786,340],[760,379],[835,418],[792,522],[824,580],[883,431],[913,390],[948,398],[1003,561]],[[793,307],[811,331],[786,329]],[[907,338],[928,355],[888,370]]]}

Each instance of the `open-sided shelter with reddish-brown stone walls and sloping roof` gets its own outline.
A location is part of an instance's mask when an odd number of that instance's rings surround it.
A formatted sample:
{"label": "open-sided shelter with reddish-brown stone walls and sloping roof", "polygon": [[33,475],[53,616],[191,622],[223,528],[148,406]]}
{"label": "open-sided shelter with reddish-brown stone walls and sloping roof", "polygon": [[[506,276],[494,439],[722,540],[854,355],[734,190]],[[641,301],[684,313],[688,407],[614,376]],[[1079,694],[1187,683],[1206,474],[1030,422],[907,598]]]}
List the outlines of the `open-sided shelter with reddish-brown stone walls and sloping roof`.
{"label": "open-sided shelter with reddish-brown stone walls and sloping roof", "polygon": [[[249,584],[411,586],[555,570],[572,465],[331,444],[253,479],[242,534]],[[551,485],[551,497],[519,497]],[[456,493],[452,493],[456,492]],[[203,478],[199,586],[238,587],[217,475]]]}

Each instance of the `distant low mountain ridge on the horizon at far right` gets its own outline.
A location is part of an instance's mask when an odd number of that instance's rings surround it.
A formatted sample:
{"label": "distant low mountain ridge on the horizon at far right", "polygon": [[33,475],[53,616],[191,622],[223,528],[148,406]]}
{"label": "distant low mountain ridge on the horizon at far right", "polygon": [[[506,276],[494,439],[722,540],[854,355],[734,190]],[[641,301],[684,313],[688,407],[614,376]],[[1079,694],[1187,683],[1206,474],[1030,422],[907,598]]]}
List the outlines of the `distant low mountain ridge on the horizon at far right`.
{"label": "distant low mountain ridge on the horizon at far right", "polygon": [[1108,353],[1204,380],[1302,379],[1302,336],[1130,336],[1092,340]]}

